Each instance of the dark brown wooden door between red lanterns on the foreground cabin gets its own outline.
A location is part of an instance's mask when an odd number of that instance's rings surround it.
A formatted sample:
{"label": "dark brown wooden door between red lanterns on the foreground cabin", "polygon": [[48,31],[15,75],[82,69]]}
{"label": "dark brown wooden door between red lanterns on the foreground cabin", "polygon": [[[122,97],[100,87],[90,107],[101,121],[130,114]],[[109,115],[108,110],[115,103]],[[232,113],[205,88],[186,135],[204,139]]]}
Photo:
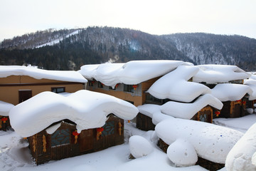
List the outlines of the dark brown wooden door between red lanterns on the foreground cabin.
{"label": "dark brown wooden door between red lanterns on the foreground cabin", "polygon": [[82,130],[78,137],[80,152],[86,152],[93,149],[93,129]]}

